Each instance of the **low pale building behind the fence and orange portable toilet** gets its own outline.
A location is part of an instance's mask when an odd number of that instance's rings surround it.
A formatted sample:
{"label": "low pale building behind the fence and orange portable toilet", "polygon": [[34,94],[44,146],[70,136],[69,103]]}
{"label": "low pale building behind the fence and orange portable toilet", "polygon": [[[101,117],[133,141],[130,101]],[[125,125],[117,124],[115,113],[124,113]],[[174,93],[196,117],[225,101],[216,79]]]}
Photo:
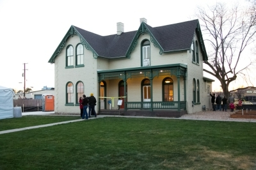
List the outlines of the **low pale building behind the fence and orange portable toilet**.
{"label": "low pale building behind the fence and orange portable toilet", "polygon": [[[31,99],[42,99],[42,95],[44,94],[55,96],[54,88],[47,88],[47,86],[44,86],[42,90],[29,91],[28,93],[25,94],[25,97],[31,98]],[[18,99],[18,98],[24,98],[24,93],[16,93],[14,99]]]}

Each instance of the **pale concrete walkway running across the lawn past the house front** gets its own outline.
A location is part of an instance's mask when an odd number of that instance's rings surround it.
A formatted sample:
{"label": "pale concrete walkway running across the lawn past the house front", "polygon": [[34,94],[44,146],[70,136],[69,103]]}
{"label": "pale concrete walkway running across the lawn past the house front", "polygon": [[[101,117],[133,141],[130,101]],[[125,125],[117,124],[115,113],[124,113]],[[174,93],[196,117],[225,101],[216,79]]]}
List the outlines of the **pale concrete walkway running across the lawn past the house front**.
{"label": "pale concrete walkway running across the lawn past the house front", "polygon": [[[205,114],[205,112],[204,112]],[[22,116],[27,116],[27,115],[42,115],[42,116],[77,116],[77,118],[79,118],[79,115],[67,115],[67,114],[54,114],[54,112],[42,112],[42,111],[38,111],[38,112],[22,112]],[[190,116],[188,114],[188,116]],[[209,118],[209,117],[205,117],[205,118],[198,118],[198,116],[194,116],[194,117],[186,117],[184,116],[183,118],[161,118],[161,117],[145,117],[145,116],[119,116],[119,115],[97,115],[97,118],[89,118],[89,120],[94,120],[94,119],[98,119],[98,118],[104,118],[104,117],[122,117],[122,118],[154,118],[154,119],[175,119],[175,120],[207,120],[207,121],[239,121],[239,122],[252,122],[252,123],[256,123],[256,120],[237,120],[237,119],[232,119],[232,120],[216,120],[214,118]],[[38,126],[33,126],[33,127],[24,127],[24,128],[15,128],[15,129],[11,129],[11,130],[3,130],[0,131],[0,134],[7,134],[7,133],[11,133],[11,132],[19,132],[22,130],[29,130],[29,129],[33,129],[33,128],[42,128],[42,127],[50,127],[50,126],[54,126],[54,125],[61,125],[61,124],[65,124],[65,123],[73,123],[73,122],[77,122],[77,121],[88,121],[88,120],[82,120],[82,119],[78,119],[78,120],[70,120],[70,121],[61,121],[58,123],[50,123],[50,124],[46,124],[46,125],[38,125]]]}

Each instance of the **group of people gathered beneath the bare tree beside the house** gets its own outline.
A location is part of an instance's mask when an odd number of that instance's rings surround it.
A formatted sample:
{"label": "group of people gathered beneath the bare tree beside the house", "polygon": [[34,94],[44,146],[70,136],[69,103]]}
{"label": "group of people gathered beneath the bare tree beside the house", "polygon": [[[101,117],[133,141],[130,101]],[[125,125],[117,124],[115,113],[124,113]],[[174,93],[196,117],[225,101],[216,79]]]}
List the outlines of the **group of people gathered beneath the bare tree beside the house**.
{"label": "group of people gathered beneath the bare tree beside the house", "polygon": [[[227,112],[227,104],[229,104],[229,108],[231,109],[231,112],[234,111],[235,109],[235,98],[231,95],[228,99],[224,96],[222,99],[220,97],[220,95],[216,95],[215,97],[215,93],[211,94],[211,103],[212,103],[212,110],[213,111],[221,111],[221,102],[222,102],[222,111],[226,111]],[[216,103],[216,104],[215,104]],[[239,98],[239,102],[238,102],[238,107],[241,110],[242,109],[242,100],[241,98]]]}

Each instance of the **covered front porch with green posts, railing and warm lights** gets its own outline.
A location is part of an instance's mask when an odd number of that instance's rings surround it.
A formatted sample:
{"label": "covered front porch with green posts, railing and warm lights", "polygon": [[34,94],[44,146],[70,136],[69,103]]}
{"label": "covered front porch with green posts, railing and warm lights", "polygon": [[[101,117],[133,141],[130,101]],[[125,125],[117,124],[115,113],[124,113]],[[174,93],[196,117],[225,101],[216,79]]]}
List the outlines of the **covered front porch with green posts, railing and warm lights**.
{"label": "covered front porch with green posts, railing and warm lights", "polygon": [[99,114],[174,118],[187,114],[186,72],[182,64],[98,70]]}

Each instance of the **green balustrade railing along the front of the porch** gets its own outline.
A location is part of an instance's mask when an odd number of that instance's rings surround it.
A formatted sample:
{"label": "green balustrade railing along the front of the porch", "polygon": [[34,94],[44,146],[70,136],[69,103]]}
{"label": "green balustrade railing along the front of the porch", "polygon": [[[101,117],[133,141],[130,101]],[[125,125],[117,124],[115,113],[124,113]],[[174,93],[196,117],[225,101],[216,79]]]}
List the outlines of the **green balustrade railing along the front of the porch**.
{"label": "green balustrade railing along the front of the porch", "polygon": [[186,101],[182,102],[126,102],[126,109],[140,109],[140,110],[150,110],[151,104],[153,109],[163,109],[163,110],[180,110],[186,111]]}

